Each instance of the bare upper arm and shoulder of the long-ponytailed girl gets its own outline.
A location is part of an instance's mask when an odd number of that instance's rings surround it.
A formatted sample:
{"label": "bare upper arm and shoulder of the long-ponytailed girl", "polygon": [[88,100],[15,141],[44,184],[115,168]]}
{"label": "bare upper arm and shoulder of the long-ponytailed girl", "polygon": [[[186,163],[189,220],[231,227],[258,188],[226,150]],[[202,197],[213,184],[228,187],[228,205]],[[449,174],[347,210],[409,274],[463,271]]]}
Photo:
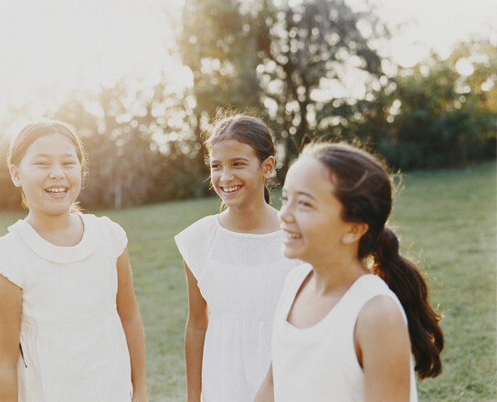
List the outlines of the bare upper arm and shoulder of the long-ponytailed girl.
{"label": "bare upper arm and shoulder of the long-ponytailed girl", "polygon": [[386,296],[367,302],[354,341],[365,371],[365,402],[409,402],[411,346],[397,304]]}

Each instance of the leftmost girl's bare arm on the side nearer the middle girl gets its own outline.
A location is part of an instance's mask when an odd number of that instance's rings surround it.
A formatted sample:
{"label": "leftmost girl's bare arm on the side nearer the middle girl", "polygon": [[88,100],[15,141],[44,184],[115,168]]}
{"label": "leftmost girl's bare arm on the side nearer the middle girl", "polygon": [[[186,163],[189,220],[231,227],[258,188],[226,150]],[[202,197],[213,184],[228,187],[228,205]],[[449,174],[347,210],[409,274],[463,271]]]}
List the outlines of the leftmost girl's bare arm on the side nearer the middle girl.
{"label": "leftmost girl's bare arm on the side nearer the middle girl", "polygon": [[117,312],[121,317],[122,328],[130,351],[132,365],[132,401],[146,402],[147,380],[145,366],[145,335],[142,315],[138,308],[132,284],[132,269],[128,249],[124,249],[117,260],[118,291]]}

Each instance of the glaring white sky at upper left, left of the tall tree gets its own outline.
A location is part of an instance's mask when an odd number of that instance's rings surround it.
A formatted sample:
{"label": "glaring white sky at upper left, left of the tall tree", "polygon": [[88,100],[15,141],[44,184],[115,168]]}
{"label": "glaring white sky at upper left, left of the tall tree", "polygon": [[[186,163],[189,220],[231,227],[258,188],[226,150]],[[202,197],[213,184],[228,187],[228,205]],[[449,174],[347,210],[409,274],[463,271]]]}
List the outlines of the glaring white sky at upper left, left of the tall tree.
{"label": "glaring white sky at upper left, left of the tall tree", "polygon": [[[0,119],[7,108],[57,105],[69,91],[99,91],[117,79],[189,78],[168,49],[173,32],[165,12],[174,0],[17,0],[0,6]],[[40,105],[39,110],[36,106]]]}

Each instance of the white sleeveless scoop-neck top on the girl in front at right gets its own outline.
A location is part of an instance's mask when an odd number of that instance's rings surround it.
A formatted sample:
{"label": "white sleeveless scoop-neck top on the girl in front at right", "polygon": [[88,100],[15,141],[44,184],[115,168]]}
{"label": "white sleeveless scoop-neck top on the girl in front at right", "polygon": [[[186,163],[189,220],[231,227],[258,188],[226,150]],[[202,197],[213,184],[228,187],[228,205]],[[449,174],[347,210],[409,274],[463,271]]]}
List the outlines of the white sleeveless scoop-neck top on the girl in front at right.
{"label": "white sleeveless scoop-neck top on the girl in front at right", "polygon": [[[354,348],[354,327],[365,303],[386,295],[406,314],[393,291],[376,275],[363,275],[320,323],[299,329],[287,321],[297,291],[312,266],[292,270],[281,293],[272,335],[272,370],[276,402],[363,402],[365,376]],[[417,402],[411,359],[410,402]]]}

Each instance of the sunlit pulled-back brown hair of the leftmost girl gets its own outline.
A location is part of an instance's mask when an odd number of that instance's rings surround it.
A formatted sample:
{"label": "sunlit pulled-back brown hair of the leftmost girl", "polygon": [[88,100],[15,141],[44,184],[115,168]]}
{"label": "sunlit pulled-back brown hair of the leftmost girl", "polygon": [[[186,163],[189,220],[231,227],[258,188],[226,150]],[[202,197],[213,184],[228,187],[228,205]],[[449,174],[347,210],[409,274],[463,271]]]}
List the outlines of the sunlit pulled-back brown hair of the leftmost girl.
{"label": "sunlit pulled-back brown hair of the leftmost girl", "polygon": [[[6,158],[7,166],[10,166],[11,164],[20,164],[21,160],[26,154],[27,148],[29,148],[32,143],[37,141],[38,138],[56,133],[68,138],[69,141],[74,144],[76,153],[78,155],[79,164],[81,164],[81,176],[84,180],[86,175],[88,175],[89,164],[87,153],[85,152],[79,136],[72,132],[69,127],[63,122],[47,121],[27,124],[26,127],[17,134],[14,141],[10,144],[9,153],[7,154]],[[23,197],[23,206],[27,207],[26,196],[24,195],[24,192],[22,192],[22,190],[21,193]],[[79,210],[78,206],[72,206],[72,209]]]}

